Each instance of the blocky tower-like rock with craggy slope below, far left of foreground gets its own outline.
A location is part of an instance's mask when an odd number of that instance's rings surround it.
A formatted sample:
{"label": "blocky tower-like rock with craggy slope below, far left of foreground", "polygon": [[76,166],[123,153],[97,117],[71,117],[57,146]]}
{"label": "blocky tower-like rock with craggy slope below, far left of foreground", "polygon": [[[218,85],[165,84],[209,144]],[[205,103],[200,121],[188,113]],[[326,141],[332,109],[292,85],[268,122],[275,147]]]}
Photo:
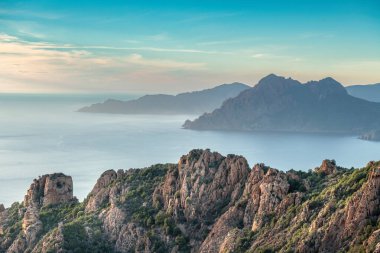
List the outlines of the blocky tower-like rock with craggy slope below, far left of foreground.
{"label": "blocky tower-like rock with craggy slope below, far left of foreground", "polygon": [[71,177],[56,173],[35,179],[22,205],[15,203],[11,208],[1,211],[1,245],[7,248],[7,252],[32,251],[44,232],[41,210],[52,205],[76,202]]}

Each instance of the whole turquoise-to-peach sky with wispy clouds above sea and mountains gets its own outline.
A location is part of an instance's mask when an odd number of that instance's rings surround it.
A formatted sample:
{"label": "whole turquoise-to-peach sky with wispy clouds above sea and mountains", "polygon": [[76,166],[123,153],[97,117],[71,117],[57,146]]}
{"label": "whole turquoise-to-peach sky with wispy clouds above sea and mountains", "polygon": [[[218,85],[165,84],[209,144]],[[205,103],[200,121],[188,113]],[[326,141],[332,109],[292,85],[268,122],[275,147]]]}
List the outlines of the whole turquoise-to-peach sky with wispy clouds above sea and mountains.
{"label": "whole turquoise-to-peach sky with wispy clouds above sea and mountains", "polygon": [[380,1],[0,0],[0,92],[380,82]]}

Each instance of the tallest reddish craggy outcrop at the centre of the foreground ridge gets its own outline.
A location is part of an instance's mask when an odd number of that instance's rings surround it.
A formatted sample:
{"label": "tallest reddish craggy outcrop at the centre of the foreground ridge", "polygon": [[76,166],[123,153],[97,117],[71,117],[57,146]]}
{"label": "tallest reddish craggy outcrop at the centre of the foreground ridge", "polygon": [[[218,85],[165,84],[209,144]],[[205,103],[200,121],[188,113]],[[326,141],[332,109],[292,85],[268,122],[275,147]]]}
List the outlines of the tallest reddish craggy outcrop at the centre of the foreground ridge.
{"label": "tallest reddish craggy outcrop at the centre of the foreground ridge", "polygon": [[184,233],[193,235],[190,244],[198,247],[216,218],[239,200],[249,171],[241,156],[193,150],[180,158],[154,198],[177,223],[183,223]]}

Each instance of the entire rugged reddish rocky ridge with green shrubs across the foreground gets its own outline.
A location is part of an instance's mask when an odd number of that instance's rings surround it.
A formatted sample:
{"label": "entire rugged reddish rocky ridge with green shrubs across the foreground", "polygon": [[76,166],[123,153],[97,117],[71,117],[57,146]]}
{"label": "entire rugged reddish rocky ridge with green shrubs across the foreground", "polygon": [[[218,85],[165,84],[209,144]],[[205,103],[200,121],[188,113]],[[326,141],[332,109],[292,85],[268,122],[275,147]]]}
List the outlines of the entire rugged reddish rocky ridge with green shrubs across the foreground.
{"label": "entire rugged reddish rocky ridge with green shrubs across the foreground", "polygon": [[79,203],[63,174],[0,206],[0,252],[380,252],[380,162],[283,172],[192,150],[109,170]]}

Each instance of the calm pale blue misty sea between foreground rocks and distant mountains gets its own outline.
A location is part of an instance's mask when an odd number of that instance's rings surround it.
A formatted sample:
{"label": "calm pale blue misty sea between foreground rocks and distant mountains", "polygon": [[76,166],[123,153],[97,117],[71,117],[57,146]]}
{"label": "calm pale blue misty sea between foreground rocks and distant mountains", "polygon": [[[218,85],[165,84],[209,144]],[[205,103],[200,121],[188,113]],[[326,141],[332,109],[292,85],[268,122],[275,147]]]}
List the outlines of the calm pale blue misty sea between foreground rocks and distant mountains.
{"label": "calm pale blue misty sea between foreground rocks and distant mountains", "polygon": [[264,162],[308,170],[325,158],[344,167],[380,160],[380,143],[355,136],[211,132],[181,129],[196,115],[107,115],[75,112],[123,94],[0,94],[0,203],[21,201],[33,178],[63,172],[82,200],[107,169],[177,162],[193,148],[240,154],[252,166]]}

